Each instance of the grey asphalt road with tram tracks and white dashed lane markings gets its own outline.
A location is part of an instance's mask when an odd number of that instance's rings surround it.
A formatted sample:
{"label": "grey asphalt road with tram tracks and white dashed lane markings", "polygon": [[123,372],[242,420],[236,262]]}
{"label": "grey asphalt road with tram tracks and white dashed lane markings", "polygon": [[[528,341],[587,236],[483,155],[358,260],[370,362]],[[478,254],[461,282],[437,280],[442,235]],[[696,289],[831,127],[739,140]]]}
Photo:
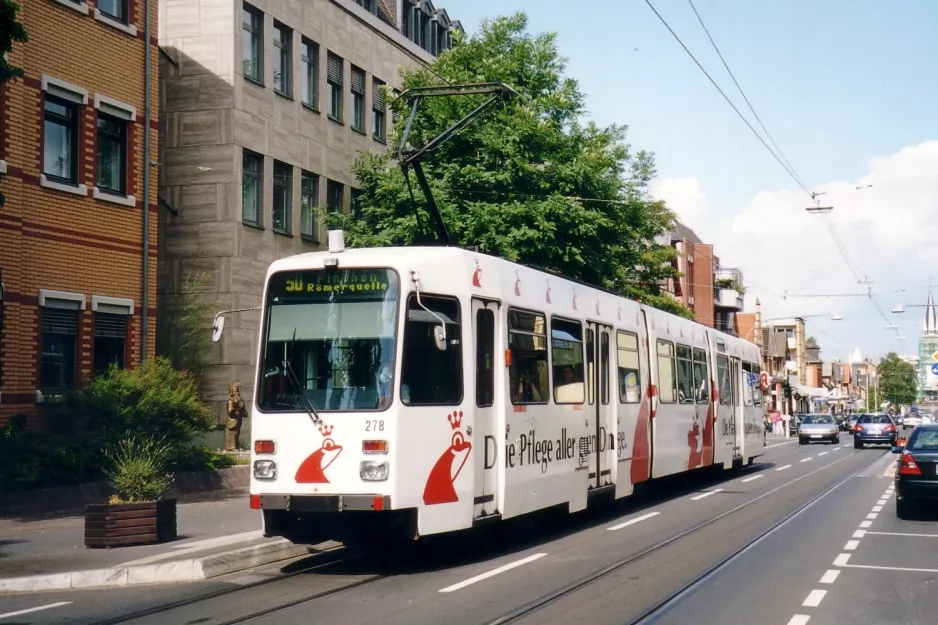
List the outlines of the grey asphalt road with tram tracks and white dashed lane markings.
{"label": "grey asphalt road with tram tracks and white dashed lane markings", "polygon": [[[399,550],[338,550],[198,584],[0,596],[0,625],[630,623],[661,604],[647,622],[938,621],[938,520],[897,521],[894,496],[879,503],[894,456],[843,436],[836,447],[781,444],[760,460],[604,512]],[[869,565],[922,570],[858,568]]]}

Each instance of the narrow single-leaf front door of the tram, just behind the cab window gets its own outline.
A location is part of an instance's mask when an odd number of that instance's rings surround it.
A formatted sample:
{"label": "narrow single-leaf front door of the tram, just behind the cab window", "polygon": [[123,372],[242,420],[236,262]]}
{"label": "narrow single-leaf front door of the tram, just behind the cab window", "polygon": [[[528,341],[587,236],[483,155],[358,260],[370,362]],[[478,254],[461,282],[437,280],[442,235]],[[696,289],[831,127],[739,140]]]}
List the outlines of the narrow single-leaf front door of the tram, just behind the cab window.
{"label": "narrow single-leaf front door of the tram, just behind the cab window", "polygon": [[498,413],[496,406],[495,354],[500,345],[498,302],[472,299],[473,359],[475,361],[475,432],[472,432],[475,453],[475,491],[473,516],[478,518],[493,514],[497,510],[495,490],[498,484],[498,467],[505,459],[498,457],[504,449],[504,433],[497,432]]}

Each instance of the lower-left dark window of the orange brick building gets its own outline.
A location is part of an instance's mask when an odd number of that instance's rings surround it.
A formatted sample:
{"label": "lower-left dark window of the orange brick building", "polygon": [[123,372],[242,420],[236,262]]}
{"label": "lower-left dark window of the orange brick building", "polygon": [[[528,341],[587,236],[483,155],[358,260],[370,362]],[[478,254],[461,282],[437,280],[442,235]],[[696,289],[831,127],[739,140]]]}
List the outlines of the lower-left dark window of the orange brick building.
{"label": "lower-left dark window of the orange brick building", "polygon": [[79,304],[63,300],[62,305],[69,308],[45,306],[41,312],[42,354],[39,388],[44,391],[63,391],[75,384]]}

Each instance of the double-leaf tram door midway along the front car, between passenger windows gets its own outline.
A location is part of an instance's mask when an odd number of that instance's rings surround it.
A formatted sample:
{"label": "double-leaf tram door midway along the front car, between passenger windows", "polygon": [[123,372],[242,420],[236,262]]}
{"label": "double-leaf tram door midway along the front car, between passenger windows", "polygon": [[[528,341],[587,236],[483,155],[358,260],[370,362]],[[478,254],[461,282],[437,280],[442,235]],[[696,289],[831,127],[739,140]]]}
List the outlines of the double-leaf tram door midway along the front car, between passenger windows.
{"label": "double-leaf tram door midway along the front car, between passenger windows", "polygon": [[590,487],[612,482],[616,462],[616,405],[610,400],[612,328],[586,323],[587,402],[590,425]]}

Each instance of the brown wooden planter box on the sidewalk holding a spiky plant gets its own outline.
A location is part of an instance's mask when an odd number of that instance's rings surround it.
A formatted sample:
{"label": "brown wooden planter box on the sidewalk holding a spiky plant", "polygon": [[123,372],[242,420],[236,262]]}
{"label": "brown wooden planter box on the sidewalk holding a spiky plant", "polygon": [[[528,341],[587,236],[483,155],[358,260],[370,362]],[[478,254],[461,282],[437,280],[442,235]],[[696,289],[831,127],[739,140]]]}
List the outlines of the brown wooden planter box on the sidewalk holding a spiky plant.
{"label": "brown wooden planter box on the sidewalk holding a spiky plant", "polygon": [[85,547],[127,547],[175,539],[175,499],[85,506]]}

